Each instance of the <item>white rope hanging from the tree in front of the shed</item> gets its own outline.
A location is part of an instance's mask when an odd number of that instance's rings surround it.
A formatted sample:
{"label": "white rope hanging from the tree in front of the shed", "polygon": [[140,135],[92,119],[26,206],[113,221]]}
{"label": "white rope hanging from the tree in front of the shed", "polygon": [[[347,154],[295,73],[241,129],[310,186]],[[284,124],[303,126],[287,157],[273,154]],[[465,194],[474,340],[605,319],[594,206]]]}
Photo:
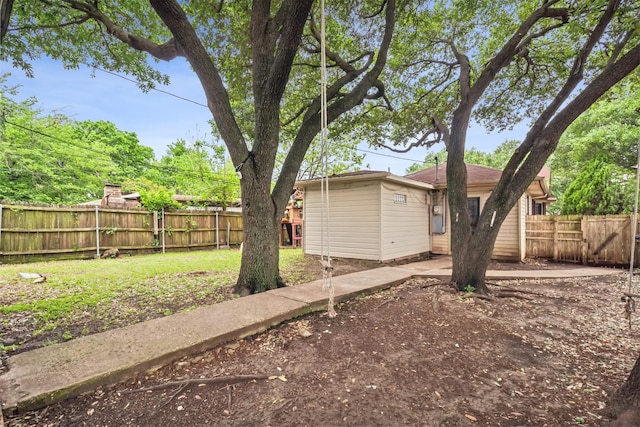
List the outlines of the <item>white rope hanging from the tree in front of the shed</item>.
{"label": "white rope hanging from the tree in front of the shed", "polygon": [[[331,266],[330,238],[329,238],[329,159],[327,150],[327,60],[326,60],[326,23],[324,12],[324,0],[320,1],[320,142],[321,142],[321,163],[322,163],[322,179],[320,181],[320,204],[321,204],[321,225],[320,225],[320,263],[324,267],[323,289],[329,291],[329,302],[327,304],[327,313],[329,317],[336,317],[334,308],[334,289],[331,281],[333,276],[333,267]],[[325,236],[326,234],[326,236]],[[326,237],[326,246],[325,246]]]}

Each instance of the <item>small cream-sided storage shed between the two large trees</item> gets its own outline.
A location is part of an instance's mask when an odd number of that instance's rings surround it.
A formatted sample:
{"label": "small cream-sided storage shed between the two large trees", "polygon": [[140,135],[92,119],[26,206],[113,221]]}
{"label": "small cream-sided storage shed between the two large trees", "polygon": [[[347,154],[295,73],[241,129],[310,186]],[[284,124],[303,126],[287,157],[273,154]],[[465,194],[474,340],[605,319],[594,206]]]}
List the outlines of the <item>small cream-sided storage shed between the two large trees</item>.
{"label": "small cream-sided storage shed between the two large trees", "polygon": [[[321,180],[304,188],[303,250],[332,257],[388,261],[431,251],[433,185],[388,172],[360,171],[329,180],[329,209],[323,213]],[[324,217],[323,217],[324,214]],[[321,235],[323,218],[328,234]],[[324,242],[323,242],[324,240]],[[326,249],[325,249],[326,250]]]}

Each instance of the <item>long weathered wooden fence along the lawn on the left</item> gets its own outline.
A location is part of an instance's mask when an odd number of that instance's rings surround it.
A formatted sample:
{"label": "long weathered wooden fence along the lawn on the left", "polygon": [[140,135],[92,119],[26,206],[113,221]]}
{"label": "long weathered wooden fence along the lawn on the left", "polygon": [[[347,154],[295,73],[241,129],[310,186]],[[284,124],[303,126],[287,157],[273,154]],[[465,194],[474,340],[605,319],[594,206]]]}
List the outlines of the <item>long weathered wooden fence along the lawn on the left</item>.
{"label": "long weathered wooden fence along the lawn on the left", "polygon": [[242,215],[102,206],[0,204],[0,262],[219,248],[242,243]]}

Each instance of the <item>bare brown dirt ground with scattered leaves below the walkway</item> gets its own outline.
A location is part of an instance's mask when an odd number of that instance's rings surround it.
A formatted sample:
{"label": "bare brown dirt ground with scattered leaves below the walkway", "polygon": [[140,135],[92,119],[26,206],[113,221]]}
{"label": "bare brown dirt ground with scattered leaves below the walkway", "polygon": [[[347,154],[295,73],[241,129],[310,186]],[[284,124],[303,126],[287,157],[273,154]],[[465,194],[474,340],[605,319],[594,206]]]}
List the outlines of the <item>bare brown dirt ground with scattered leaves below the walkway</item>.
{"label": "bare brown dirt ground with scattered leaves below the walkway", "polygon": [[411,280],[5,423],[602,425],[640,349],[627,280],[501,281],[519,292],[493,301]]}

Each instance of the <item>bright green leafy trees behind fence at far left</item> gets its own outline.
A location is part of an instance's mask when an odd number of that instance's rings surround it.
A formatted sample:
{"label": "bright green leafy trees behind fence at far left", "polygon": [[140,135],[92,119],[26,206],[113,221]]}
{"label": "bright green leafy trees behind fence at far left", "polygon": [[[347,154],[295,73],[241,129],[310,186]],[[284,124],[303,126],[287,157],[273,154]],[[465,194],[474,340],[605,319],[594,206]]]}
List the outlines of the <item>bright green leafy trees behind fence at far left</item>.
{"label": "bright green leafy trees behind fence at far left", "polygon": [[105,121],[45,113],[2,85],[0,199],[75,204],[102,197],[107,182],[140,176],[154,159],[135,134]]}

